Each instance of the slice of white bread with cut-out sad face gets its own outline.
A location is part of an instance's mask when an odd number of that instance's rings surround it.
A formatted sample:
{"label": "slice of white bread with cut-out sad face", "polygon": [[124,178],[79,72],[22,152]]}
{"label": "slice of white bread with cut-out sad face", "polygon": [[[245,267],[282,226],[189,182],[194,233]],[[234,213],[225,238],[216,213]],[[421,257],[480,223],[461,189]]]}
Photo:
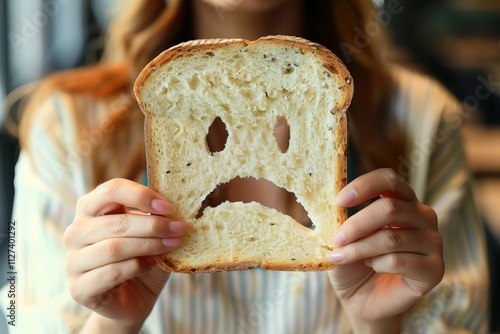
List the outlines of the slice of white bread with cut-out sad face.
{"label": "slice of white bread with cut-out sad face", "polygon": [[[352,78],[329,50],[268,36],[195,40],[163,52],[139,75],[149,187],[193,226],[180,248],[157,257],[175,272],[327,270],[332,237],[346,219],[333,200],[346,183]],[[227,142],[213,152],[207,134],[224,122]],[[273,135],[290,129],[283,152]],[[259,203],[224,202],[198,210],[218,186],[266,179],[296,195],[314,229]]]}

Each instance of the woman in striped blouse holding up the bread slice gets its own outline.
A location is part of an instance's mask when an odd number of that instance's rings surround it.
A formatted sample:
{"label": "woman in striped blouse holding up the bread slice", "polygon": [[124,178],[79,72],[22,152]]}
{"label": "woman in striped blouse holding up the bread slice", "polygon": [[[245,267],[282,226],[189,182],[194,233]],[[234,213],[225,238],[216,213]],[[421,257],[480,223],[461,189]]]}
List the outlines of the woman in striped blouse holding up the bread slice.
{"label": "woman in striped blouse holding up the bread slice", "polygon": [[[118,8],[103,64],[47,79],[22,123],[19,326],[486,332],[486,258],[458,134],[462,114],[435,82],[384,64],[379,36],[367,30],[380,28],[370,1],[150,0]],[[339,266],[169,275],[153,256],[178,247],[187,228],[143,185],[143,121],[131,86],[150,59],[178,42],[271,34],[327,46],[356,83],[353,178],[337,205],[357,212],[335,236],[339,249],[329,258]]]}

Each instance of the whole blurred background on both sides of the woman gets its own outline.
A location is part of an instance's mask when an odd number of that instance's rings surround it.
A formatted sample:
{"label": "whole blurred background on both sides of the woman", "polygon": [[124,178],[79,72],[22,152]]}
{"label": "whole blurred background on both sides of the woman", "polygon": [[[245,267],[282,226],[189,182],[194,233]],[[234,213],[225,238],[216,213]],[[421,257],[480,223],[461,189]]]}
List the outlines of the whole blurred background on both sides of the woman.
{"label": "whole blurred background on both sides of the woman", "polygon": [[[19,150],[15,136],[8,131],[16,121],[16,104],[10,101],[48,73],[95,63],[102,53],[108,13],[115,2],[0,0],[0,254],[5,254],[5,228],[11,218]],[[500,1],[386,0],[381,6],[379,20],[387,26],[393,42],[388,56],[433,76],[465,107],[466,153],[477,177],[478,205],[488,226],[491,274],[498,282]],[[402,10],[394,10],[396,7]],[[0,284],[6,281],[6,260],[7,256],[1,255]],[[499,301],[494,284],[492,302],[498,305]],[[492,331],[500,331],[500,311],[494,307]],[[2,326],[3,317],[0,333],[5,333]]]}

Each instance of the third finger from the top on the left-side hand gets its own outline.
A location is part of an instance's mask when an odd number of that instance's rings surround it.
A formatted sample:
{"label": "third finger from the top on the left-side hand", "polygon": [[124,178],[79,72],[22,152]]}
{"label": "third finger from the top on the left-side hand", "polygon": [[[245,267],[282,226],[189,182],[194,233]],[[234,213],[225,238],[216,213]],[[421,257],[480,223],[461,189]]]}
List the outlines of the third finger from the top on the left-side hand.
{"label": "third finger from the top on the left-side hand", "polygon": [[181,237],[115,238],[99,241],[78,250],[78,261],[68,261],[67,272],[80,274],[111,263],[163,254],[179,247]]}

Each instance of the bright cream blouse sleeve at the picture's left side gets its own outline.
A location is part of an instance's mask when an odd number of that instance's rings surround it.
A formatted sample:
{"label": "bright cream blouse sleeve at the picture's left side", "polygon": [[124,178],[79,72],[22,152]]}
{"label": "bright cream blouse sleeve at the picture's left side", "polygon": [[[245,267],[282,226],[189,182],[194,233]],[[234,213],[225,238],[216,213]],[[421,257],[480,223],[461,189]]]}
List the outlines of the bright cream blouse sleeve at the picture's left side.
{"label": "bright cream blouse sleeve at the picture's left side", "polygon": [[39,107],[16,166],[15,297],[7,298],[8,287],[0,293],[3,312],[15,305],[15,316],[7,318],[12,333],[71,333],[86,318],[64,272],[64,229],[85,191],[83,151],[67,149],[76,140],[67,102],[53,96]]}

